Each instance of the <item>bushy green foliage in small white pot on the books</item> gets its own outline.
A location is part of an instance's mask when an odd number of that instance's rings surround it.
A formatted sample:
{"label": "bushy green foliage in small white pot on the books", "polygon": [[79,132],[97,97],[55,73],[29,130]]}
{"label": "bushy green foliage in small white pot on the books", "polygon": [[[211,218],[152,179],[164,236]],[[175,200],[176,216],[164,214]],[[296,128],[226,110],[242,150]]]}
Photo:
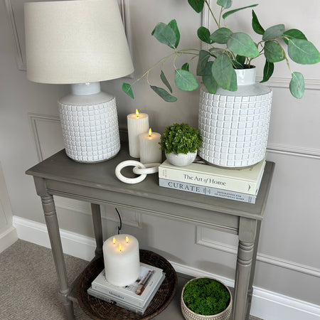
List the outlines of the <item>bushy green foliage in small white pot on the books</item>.
{"label": "bushy green foliage in small white pot on the books", "polygon": [[175,123],[166,127],[166,131],[161,135],[160,146],[166,154],[196,152],[201,146],[201,136],[197,129],[188,124]]}

